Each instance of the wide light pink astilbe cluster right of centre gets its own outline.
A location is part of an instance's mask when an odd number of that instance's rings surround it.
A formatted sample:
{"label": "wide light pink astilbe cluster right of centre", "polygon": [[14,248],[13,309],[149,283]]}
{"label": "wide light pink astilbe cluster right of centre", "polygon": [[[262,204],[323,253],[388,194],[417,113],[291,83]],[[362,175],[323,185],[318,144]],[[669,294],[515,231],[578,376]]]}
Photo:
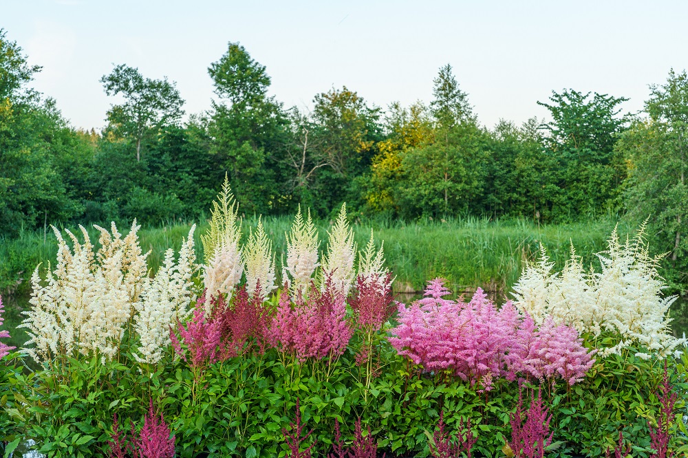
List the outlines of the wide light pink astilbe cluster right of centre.
{"label": "wide light pink astilbe cluster right of centre", "polygon": [[551,321],[535,329],[512,303],[501,309],[478,288],[469,303],[444,299],[441,279],[429,283],[424,298],[400,304],[391,345],[426,371],[451,370],[463,380],[491,389],[494,377],[581,380],[594,360],[577,331]]}

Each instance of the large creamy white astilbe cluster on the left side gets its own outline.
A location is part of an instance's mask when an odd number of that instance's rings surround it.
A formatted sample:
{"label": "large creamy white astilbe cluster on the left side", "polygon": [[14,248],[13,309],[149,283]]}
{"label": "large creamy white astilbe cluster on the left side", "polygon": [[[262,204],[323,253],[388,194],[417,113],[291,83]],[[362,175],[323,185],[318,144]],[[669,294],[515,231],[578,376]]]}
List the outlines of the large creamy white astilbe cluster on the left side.
{"label": "large creamy white astilbe cluster on the left side", "polygon": [[[28,329],[26,351],[37,362],[56,356],[92,356],[111,359],[119,351],[125,329],[133,323],[140,340],[139,361],[157,362],[169,345],[173,318],[186,316],[192,300],[194,270],[193,230],[182,244],[178,261],[168,250],[155,278],[147,276],[147,254],[142,254],[134,221],[127,237],[115,224],[100,231],[100,249],[83,226],[83,242],[66,230],[73,248],[56,228],[57,262],[48,268],[45,284],[39,267],[32,275],[32,309],[20,327]],[[30,346],[33,344],[33,346]]]}

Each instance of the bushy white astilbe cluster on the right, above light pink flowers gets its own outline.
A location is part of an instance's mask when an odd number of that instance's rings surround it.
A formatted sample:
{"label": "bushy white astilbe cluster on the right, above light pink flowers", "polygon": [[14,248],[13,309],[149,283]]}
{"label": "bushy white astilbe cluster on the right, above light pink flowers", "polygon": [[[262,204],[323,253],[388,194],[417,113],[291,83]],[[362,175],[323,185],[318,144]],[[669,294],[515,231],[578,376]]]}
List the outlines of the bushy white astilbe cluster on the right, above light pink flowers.
{"label": "bushy white astilbe cluster on the right, above light pink flowers", "polygon": [[[566,268],[561,274],[552,273],[553,264],[543,248],[539,263],[528,265],[513,287],[515,305],[533,316],[537,324],[551,316],[593,338],[605,331],[618,336],[619,343],[601,348],[601,356],[619,353],[630,345],[667,356],[684,341],[669,332],[669,307],[676,296],[661,296],[665,288],[657,272],[661,257],[648,254],[646,225],[647,221],[634,239],[623,244],[614,228],[608,250],[597,255],[600,272],[592,268],[585,272],[572,249]],[[647,353],[637,356],[649,358]]]}

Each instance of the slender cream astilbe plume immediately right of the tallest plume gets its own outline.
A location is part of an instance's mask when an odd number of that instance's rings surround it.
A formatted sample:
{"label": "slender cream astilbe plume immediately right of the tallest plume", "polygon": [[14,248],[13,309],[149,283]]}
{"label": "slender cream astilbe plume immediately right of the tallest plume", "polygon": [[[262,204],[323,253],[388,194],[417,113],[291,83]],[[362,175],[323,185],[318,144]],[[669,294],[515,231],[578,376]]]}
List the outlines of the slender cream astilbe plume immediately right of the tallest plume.
{"label": "slender cream astilbe plume immediately right of the tallest plume", "polygon": [[275,259],[272,255],[272,241],[263,228],[263,221],[258,219],[258,227],[251,232],[244,247],[246,264],[246,290],[249,296],[255,294],[256,285],[260,282],[260,295],[267,300],[268,294],[275,290]]}

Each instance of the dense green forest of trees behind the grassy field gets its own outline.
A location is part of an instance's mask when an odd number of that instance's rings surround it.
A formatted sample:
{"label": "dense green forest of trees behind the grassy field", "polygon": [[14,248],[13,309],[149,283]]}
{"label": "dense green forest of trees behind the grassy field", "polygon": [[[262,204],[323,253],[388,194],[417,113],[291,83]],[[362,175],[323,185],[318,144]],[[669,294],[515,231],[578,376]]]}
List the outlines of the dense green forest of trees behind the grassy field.
{"label": "dense green forest of trees behind the grassy field", "polygon": [[[185,116],[175,83],[125,64],[100,82],[120,103],[103,131],[75,129],[37,93],[21,45],[0,29],[0,236],[48,224],[146,225],[204,216],[227,174],[241,211],[389,220],[483,217],[537,224],[650,217],[671,292],[688,289],[688,76],[622,96],[563,89],[549,122],[478,122],[450,65],[433,100],[376,107],[347,87],[308,113],[270,95],[268,69],[239,43],[209,63],[216,97]],[[85,101],[86,102],[86,101]]]}

